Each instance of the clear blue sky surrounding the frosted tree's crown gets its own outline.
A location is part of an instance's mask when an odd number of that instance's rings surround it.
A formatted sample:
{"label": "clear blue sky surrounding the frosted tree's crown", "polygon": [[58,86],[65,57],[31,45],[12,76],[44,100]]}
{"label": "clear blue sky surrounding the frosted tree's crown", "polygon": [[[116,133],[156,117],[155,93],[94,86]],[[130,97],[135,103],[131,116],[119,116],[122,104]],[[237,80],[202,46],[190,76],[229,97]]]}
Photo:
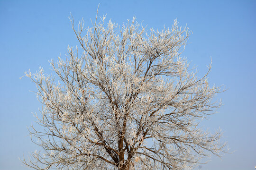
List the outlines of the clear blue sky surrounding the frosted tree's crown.
{"label": "clear blue sky surrounding the frosted tree's crown", "polygon": [[49,72],[49,59],[78,45],[68,16],[84,17],[91,26],[99,15],[121,24],[137,17],[148,28],[170,27],[175,18],[193,34],[183,56],[198,66],[199,75],[212,58],[211,85],[225,85],[224,103],[204,121],[222,128],[232,154],[211,157],[201,170],[254,170],[256,166],[256,1],[255,0],[0,0],[0,170],[26,170],[18,157],[37,149],[27,126],[40,107],[35,85],[20,80],[29,68]]}

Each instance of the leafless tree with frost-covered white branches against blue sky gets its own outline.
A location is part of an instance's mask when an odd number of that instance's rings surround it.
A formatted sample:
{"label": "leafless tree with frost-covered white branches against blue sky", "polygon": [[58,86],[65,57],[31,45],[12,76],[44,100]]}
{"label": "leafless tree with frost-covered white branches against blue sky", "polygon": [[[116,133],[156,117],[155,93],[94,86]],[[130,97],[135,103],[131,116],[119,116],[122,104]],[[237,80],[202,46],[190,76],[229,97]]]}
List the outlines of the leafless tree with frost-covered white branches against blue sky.
{"label": "leafless tree with frost-covered white branches against blue sky", "polygon": [[[42,68],[25,76],[37,85],[43,104],[30,133],[44,150],[23,162],[37,170],[179,170],[190,168],[225,144],[199,122],[220,106],[212,102],[220,87],[207,74],[196,76],[181,53],[190,31],[139,26],[135,17],[118,26],[101,18],[76,31],[78,48],[50,62],[56,76]],[[209,67],[210,71],[210,67]]]}

